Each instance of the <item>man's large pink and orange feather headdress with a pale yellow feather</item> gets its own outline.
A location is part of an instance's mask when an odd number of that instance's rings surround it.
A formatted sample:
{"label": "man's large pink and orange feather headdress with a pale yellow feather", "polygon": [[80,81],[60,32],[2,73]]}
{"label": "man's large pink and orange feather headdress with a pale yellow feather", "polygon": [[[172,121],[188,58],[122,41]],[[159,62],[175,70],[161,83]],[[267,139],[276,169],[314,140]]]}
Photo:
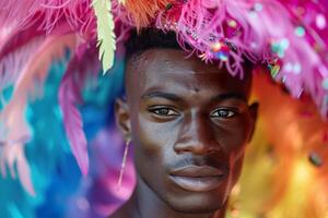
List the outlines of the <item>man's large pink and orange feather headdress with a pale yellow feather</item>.
{"label": "man's large pink and orange feather headdress with a pale yellow feather", "polygon": [[[116,44],[122,43],[122,36],[130,28],[148,26],[176,32],[181,47],[186,44],[191,47],[188,52],[206,62],[219,60],[218,66],[225,66],[235,76],[243,77],[245,58],[262,64],[292,96],[309,94],[326,118],[327,3],[327,0],[2,1],[0,95],[10,85],[16,88],[9,102],[2,104],[1,131],[28,135],[27,125],[9,122],[9,113],[15,112],[14,118],[22,118],[17,113],[23,112],[26,97],[36,84],[42,86],[49,60],[59,58],[58,49],[66,46],[73,55],[59,99],[73,154],[83,173],[87,173],[86,140],[75,108],[83,84],[79,85],[75,80],[79,73],[81,81],[85,78],[86,66],[77,68],[77,64],[92,59],[85,55],[91,47],[97,47],[102,63],[93,60],[90,71],[94,73],[102,65],[106,72],[114,64]],[[73,37],[74,44],[60,43],[61,37]],[[50,46],[46,46],[50,41]],[[38,59],[40,56],[46,60]],[[24,131],[17,129],[22,126]],[[3,145],[20,138],[3,135]]]}

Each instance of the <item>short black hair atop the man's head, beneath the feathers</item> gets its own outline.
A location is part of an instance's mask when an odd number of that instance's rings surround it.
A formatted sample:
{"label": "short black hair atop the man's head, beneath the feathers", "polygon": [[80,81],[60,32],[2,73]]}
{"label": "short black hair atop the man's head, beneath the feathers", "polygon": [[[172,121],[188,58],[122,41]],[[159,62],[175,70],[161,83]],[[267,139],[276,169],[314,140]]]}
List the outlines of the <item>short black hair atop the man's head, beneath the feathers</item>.
{"label": "short black hair atop the man's head, beneath the feathers", "polygon": [[163,32],[157,28],[132,29],[126,41],[126,60],[139,56],[152,48],[172,48],[181,50],[175,32]]}

